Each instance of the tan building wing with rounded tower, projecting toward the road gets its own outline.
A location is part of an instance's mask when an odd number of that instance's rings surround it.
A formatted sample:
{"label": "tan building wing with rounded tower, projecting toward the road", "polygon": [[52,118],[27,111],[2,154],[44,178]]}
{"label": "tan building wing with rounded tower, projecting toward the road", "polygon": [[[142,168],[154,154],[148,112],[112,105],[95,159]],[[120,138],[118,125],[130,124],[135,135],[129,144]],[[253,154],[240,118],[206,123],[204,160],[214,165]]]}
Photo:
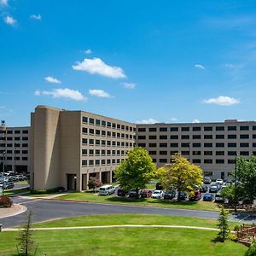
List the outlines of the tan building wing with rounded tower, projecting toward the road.
{"label": "tan building wing with rounded tower, projecting toward the road", "polygon": [[94,113],[38,106],[31,119],[32,189],[110,183],[135,143],[136,125]]}

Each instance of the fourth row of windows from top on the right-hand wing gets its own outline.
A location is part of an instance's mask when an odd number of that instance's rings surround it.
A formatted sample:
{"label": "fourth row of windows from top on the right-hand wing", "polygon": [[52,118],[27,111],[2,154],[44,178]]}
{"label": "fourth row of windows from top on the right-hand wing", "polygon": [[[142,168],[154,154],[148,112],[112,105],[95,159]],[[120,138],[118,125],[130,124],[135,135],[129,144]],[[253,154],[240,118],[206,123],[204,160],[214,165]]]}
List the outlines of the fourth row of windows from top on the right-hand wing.
{"label": "fourth row of windows from top on the right-hand wing", "polygon": [[[150,155],[155,155],[155,154],[160,154],[160,155],[167,155],[169,151],[166,150],[160,150],[160,151],[154,151],[154,150],[149,150],[148,154]],[[171,155],[177,154],[179,153],[178,151],[170,151]],[[250,152],[249,151],[240,151],[240,152],[236,152],[236,151],[192,151],[192,155],[213,155],[215,153],[215,155],[249,155]],[[256,151],[253,151],[253,153],[256,153]],[[191,152],[189,151],[181,151],[180,154],[183,155],[190,155]]]}

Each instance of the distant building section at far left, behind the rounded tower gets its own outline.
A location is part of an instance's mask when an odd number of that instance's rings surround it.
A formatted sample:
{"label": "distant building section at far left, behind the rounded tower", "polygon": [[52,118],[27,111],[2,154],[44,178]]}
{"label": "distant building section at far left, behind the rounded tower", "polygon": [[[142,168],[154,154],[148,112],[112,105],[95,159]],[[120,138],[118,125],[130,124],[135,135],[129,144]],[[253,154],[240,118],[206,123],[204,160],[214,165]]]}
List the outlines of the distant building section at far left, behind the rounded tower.
{"label": "distant building section at far left, behind the rounded tower", "polygon": [[30,172],[30,127],[0,126],[0,163],[5,171]]}

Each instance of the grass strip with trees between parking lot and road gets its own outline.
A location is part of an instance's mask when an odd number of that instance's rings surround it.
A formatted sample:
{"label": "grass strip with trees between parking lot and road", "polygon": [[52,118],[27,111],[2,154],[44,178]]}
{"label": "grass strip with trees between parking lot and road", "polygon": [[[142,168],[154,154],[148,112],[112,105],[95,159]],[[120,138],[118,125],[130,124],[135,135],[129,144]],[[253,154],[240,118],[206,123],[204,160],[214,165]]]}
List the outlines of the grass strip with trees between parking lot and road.
{"label": "grass strip with trees between parking lot and road", "polygon": [[88,202],[101,202],[101,203],[113,203],[113,204],[130,204],[137,206],[150,206],[150,207],[171,207],[171,208],[183,208],[192,210],[207,210],[207,211],[218,211],[218,206],[213,202],[205,201],[186,201],[186,202],[171,202],[163,201],[152,198],[146,199],[133,199],[133,198],[122,198],[117,196],[101,196],[95,195],[91,191],[70,193],[67,195],[61,195],[56,199],[60,200],[77,200],[77,201],[88,201]]}

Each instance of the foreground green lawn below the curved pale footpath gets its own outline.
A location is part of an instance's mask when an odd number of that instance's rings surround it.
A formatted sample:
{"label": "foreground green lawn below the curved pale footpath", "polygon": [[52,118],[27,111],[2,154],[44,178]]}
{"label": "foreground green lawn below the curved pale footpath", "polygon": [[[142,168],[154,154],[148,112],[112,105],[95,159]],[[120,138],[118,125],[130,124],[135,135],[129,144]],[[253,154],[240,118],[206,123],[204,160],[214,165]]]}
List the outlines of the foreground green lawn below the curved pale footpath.
{"label": "foreground green lawn below the curved pale footpath", "polygon": [[[0,254],[15,255],[15,232],[0,233]],[[214,243],[216,232],[165,228],[34,231],[36,255],[241,256],[246,247],[233,241]],[[44,254],[45,253],[45,254]]]}

